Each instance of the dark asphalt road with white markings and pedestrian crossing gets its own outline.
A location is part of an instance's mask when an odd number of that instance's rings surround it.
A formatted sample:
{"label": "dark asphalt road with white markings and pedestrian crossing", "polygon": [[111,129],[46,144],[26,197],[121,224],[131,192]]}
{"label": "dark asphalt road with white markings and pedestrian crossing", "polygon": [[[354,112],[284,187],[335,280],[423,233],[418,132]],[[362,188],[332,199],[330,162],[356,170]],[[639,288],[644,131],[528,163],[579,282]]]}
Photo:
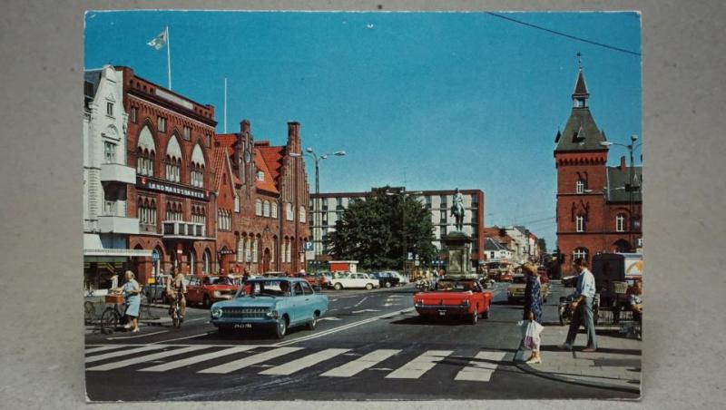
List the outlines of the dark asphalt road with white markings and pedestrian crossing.
{"label": "dark asphalt road with white markings and pedestrian crossing", "polygon": [[[181,329],[86,335],[86,388],[98,401],[434,400],[634,398],[524,373],[513,358],[521,305],[497,284],[491,317],[425,321],[414,288],[326,291],[330,310],[314,331],[216,333],[209,311],[189,308]],[[544,317],[556,320],[553,287]]]}

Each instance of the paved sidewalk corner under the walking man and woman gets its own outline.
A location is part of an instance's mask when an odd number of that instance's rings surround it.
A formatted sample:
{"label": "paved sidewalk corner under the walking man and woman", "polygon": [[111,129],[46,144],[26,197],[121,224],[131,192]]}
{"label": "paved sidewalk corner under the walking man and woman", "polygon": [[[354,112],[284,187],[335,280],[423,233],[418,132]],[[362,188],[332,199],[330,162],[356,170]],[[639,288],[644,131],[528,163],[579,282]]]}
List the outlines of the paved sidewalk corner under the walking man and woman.
{"label": "paved sidewalk corner under the walking man and woman", "polygon": [[575,339],[572,352],[559,347],[567,337],[569,326],[545,323],[542,331],[542,363],[527,365],[530,352],[520,347],[515,356],[515,366],[537,376],[584,386],[640,392],[641,340],[627,338],[618,326],[596,327],[598,349],[594,353],[581,350],[587,342],[584,328]]}

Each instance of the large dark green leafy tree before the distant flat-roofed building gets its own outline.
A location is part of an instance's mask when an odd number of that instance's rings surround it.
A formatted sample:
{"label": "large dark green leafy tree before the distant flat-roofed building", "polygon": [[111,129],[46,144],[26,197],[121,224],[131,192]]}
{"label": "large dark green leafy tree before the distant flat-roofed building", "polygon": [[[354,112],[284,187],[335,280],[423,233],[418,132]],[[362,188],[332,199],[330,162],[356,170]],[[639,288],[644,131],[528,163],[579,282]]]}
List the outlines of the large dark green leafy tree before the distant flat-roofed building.
{"label": "large dark green leafy tree before the distant flat-roofed building", "polygon": [[401,267],[404,248],[424,263],[432,261],[438,253],[432,240],[431,212],[403,192],[384,187],[351,201],[327,244],[336,259],[358,260],[361,268],[376,269]]}

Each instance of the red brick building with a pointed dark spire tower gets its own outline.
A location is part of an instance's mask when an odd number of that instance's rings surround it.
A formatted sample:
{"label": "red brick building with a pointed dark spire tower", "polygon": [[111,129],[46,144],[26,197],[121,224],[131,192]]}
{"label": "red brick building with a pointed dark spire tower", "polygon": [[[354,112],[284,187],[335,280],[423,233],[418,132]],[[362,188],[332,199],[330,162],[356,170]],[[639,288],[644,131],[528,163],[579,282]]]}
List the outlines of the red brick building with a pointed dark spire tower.
{"label": "red brick building with a pointed dark spire tower", "polygon": [[[590,93],[580,69],[573,109],[554,142],[557,169],[557,246],[564,270],[574,258],[600,252],[633,252],[642,248],[642,167],[608,167],[605,134],[594,122]],[[624,150],[624,149],[623,149]]]}

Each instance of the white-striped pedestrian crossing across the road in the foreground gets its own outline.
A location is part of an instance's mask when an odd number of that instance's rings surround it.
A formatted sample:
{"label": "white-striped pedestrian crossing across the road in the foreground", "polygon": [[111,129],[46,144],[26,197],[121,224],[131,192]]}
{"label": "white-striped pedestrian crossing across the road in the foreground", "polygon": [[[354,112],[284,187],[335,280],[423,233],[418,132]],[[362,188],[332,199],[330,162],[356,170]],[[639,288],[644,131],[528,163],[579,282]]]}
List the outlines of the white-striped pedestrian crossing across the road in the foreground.
{"label": "white-striped pedestrian crossing across the road in the foreground", "polygon": [[[198,375],[241,377],[375,376],[388,380],[417,380],[456,375],[463,382],[489,382],[500,366],[511,366],[512,353],[480,350],[466,354],[455,350],[380,348],[356,351],[351,348],[216,346],[216,345],[110,345],[87,347],[87,372],[138,371],[162,373],[180,371]],[[438,371],[437,366],[446,367]]]}

